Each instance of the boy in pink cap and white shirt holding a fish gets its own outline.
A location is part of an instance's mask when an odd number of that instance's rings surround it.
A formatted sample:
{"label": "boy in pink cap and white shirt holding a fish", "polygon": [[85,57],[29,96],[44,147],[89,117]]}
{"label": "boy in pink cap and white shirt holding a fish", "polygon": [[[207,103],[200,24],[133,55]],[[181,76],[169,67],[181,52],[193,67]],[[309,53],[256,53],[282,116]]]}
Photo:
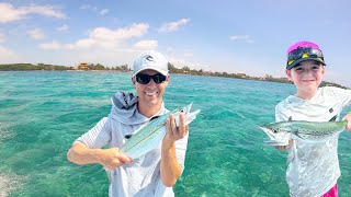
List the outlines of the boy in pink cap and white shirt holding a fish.
{"label": "boy in pink cap and white shirt holding a fish", "polygon": [[[326,72],[326,63],[318,45],[298,42],[287,49],[285,70],[297,91],[275,107],[275,120],[329,121],[340,119],[340,113],[351,104],[351,90],[333,86],[318,88]],[[346,130],[351,130],[351,113]],[[275,147],[287,149],[286,181],[291,196],[338,196],[340,177],[338,137],[326,140],[304,140],[290,136],[290,144]]]}

